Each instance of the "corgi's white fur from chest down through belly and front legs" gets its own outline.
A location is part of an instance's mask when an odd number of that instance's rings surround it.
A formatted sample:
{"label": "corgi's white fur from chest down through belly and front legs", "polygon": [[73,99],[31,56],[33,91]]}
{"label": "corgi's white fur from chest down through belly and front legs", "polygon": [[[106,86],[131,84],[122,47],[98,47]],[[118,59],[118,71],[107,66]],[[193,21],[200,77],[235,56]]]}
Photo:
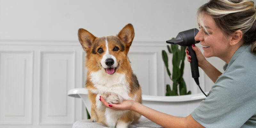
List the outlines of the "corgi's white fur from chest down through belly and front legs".
{"label": "corgi's white fur from chest down through belly and front legs", "polygon": [[[94,84],[94,87],[97,89],[90,90],[91,92],[97,94],[96,96],[96,107],[98,110],[104,110],[105,106],[100,102],[99,97],[105,93],[115,93],[118,95],[120,102],[122,100],[132,100],[129,97],[128,93],[130,91],[129,84],[126,81],[125,75],[120,73],[114,73],[112,75],[106,74],[104,69],[101,69],[97,72],[92,72],[90,74],[90,80]],[[115,111],[109,108],[105,109],[106,123],[109,126],[114,127],[117,120],[121,115],[126,113],[126,111]],[[131,123],[131,122],[130,122]],[[130,123],[123,123],[127,127]],[[119,123],[121,125],[122,123]]]}

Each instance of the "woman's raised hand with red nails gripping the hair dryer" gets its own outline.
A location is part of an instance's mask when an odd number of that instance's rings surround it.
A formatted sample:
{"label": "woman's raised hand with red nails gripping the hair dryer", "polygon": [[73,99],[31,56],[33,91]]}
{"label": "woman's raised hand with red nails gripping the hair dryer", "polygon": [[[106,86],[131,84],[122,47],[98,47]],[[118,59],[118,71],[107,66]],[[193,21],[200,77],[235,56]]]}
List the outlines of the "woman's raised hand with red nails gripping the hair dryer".
{"label": "woman's raised hand with red nails gripping the hair dryer", "polygon": [[[200,51],[200,49],[195,46],[194,44],[192,45],[192,49],[196,52],[196,58],[197,58],[197,61],[198,61],[198,67],[202,67],[202,65],[207,61],[204,57],[204,55],[202,54],[202,52]],[[188,52],[188,48],[186,48],[185,50],[186,52],[186,57],[188,58],[188,62],[191,62],[191,56],[188,55],[189,52]]]}

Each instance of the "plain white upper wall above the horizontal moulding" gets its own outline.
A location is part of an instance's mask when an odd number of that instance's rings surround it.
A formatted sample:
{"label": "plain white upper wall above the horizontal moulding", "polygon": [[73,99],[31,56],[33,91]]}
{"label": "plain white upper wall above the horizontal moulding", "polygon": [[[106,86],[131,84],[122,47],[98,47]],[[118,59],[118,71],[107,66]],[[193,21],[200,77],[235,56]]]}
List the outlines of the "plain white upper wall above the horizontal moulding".
{"label": "plain white upper wall above the horizontal moulding", "polygon": [[1,40],[77,40],[78,28],[116,35],[132,23],[134,41],[165,41],[197,28],[205,0],[0,0]]}

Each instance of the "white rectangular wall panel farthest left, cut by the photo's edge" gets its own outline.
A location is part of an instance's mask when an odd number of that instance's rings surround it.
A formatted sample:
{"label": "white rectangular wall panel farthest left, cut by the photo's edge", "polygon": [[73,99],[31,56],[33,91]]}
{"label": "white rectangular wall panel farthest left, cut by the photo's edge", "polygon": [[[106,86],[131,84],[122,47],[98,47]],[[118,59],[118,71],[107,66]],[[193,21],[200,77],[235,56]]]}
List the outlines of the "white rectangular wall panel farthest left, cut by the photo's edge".
{"label": "white rectangular wall panel farthest left, cut by the photo's edge", "polygon": [[0,124],[32,123],[33,52],[0,51]]}

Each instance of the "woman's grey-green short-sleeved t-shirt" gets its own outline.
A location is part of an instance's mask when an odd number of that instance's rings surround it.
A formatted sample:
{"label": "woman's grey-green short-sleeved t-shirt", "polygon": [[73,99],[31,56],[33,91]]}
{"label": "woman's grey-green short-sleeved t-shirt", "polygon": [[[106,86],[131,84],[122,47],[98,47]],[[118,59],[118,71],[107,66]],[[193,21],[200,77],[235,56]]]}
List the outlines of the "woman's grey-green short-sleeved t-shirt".
{"label": "woman's grey-green short-sleeved t-shirt", "polygon": [[256,54],[241,46],[191,116],[206,128],[256,127]]}

